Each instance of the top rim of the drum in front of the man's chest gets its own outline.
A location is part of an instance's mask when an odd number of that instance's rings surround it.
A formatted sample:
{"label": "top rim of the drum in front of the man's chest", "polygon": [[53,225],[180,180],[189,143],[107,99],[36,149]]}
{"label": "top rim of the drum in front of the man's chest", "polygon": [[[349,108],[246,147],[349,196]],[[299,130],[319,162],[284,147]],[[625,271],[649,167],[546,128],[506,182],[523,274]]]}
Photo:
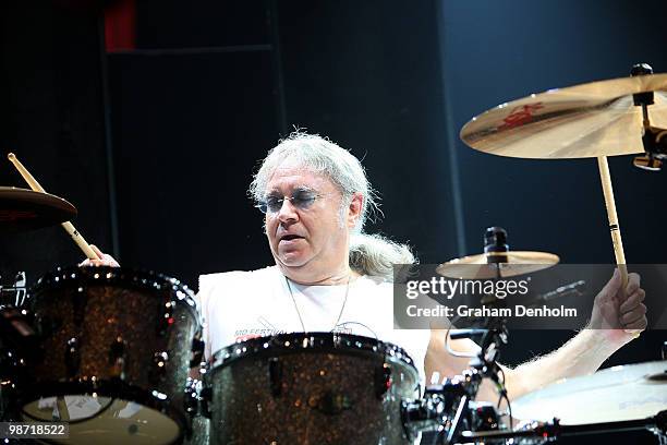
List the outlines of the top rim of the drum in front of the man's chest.
{"label": "top rim of the drum in front of the man's chest", "polygon": [[[304,346],[303,340],[308,338],[319,340],[320,342]],[[337,340],[337,338],[342,339],[344,344],[340,344],[340,340]],[[293,341],[294,339],[296,341]],[[290,341],[290,344],[286,345],[286,341]],[[270,345],[272,348],[269,348],[267,344],[274,344]],[[385,360],[400,362],[405,365],[414,374],[415,384],[419,384],[420,374],[414,360],[400,346],[361,335],[325,332],[284,333],[237,341],[219,349],[211,356],[211,362],[207,366],[207,377],[240,360],[253,356],[271,356],[272,352],[278,350],[283,351],[283,353],[316,352],[320,350],[339,353],[344,351],[360,354],[375,353],[378,356],[381,353]]]}

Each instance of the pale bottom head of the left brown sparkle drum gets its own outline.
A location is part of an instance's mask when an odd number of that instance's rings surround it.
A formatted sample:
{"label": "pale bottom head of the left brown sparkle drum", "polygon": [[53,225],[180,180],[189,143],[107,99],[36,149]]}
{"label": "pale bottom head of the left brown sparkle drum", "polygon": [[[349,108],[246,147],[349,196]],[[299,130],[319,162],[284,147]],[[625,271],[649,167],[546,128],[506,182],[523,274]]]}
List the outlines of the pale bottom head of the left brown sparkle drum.
{"label": "pale bottom head of the left brown sparkle drum", "polygon": [[[48,397],[23,407],[23,421],[68,421],[66,444],[172,444],[180,435],[168,416],[129,400],[108,397]],[[56,420],[58,419],[58,420]]]}

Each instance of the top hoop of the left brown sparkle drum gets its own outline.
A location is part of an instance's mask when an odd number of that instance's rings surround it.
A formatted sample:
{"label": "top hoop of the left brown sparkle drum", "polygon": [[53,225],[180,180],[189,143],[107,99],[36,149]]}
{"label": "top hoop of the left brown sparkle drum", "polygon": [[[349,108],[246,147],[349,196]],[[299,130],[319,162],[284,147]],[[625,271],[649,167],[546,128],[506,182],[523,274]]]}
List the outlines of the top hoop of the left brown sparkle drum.
{"label": "top hoop of the left brown sparkle drum", "polygon": [[197,304],[194,292],[183,282],[175,278],[159,274],[154,270],[133,269],[129,267],[87,266],[57,268],[41,276],[31,289],[33,300],[39,293],[48,289],[60,288],[81,279],[87,279],[87,286],[107,286],[123,284],[128,288],[150,291],[169,290],[175,294],[174,301],[182,302],[187,306],[192,315],[198,322]]}

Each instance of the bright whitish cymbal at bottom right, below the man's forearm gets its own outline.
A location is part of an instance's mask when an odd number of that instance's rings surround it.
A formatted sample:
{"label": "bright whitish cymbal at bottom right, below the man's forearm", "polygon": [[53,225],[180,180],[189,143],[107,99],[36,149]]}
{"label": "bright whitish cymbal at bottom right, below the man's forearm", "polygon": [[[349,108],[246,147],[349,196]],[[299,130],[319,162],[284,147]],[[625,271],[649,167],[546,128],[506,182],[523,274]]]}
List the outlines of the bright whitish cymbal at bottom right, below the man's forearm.
{"label": "bright whitish cymbal at bottom right, below the man's forearm", "polygon": [[667,408],[667,361],[614,366],[566,378],[512,401],[512,414],[562,424],[619,422]]}

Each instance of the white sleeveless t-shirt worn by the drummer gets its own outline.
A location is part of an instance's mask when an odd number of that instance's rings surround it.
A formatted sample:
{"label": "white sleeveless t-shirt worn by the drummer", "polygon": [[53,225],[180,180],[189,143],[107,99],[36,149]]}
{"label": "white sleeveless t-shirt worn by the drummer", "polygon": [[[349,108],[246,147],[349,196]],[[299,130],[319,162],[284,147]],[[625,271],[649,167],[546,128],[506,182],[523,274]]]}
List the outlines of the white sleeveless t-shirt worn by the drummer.
{"label": "white sleeveless t-shirt worn by the drummer", "polygon": [[235,341],[303,332],[305,327],[306,332],[336,330],[400,346],[412,358],[424,382],[430,334],[427,329],[393,328],[391,282],[361,276],[350,281],[349,289],[348,285],[302,286],[293,281],[289,286],[277,266],[202,275],[197,297],[206,359]]}

